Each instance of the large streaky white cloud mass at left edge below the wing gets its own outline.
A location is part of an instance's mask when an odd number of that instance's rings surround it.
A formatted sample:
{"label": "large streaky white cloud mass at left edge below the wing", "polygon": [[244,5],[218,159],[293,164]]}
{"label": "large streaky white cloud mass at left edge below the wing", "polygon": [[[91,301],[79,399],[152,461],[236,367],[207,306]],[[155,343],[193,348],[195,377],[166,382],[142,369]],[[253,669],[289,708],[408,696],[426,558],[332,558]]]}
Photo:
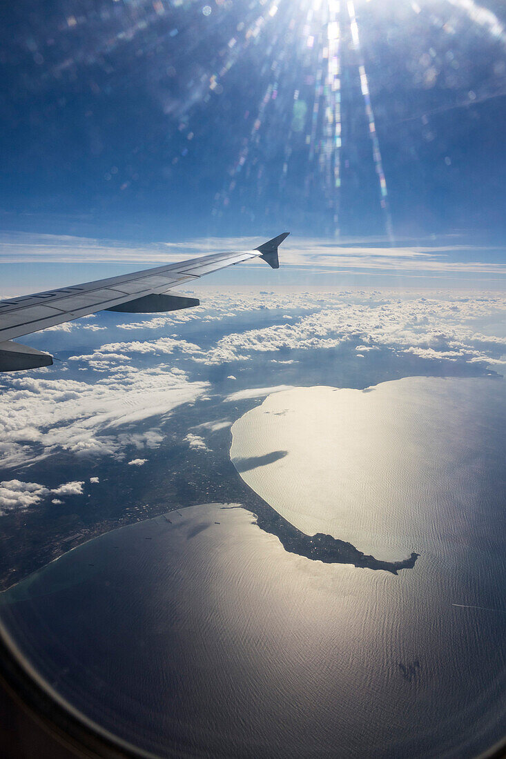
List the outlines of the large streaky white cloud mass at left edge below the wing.
{"label": "large streaky white cloud mass at left edge below the wing", "polygon": [[114,455],[128,446],[156,447],[160,430],[128,427],[194,402],[209,388],[165,364],[121,367],[96,383],[46,376],[9,376],[0,395],[0,455],[4,467],[58,451]]}

